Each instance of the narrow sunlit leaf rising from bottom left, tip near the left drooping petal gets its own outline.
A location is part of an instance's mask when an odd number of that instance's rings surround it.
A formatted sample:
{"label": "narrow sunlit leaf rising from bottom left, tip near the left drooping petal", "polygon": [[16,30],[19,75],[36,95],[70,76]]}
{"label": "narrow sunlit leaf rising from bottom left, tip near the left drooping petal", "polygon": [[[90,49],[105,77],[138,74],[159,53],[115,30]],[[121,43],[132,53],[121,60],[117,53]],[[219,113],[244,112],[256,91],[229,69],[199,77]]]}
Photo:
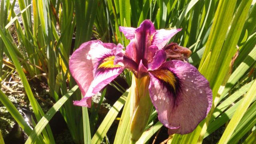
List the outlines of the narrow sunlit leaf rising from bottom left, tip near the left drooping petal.
{"label": "narrow sunlit leaf rising from bottom left, tip near the left drooping petal", "polygon": [[56,104],[48,110],[48,112],[41,118],[41,120],[38,122],[30,136],[28,137],[28,140],[25,144],[31,144],[36,140],[37,136],[44,130],[45,126],[48,124],[50,119],[54,116],[54,114],[60,109],[60,107],[68,100],[68,98],[76,91],[78,86],[74,86],[68,93],[66,93]]}

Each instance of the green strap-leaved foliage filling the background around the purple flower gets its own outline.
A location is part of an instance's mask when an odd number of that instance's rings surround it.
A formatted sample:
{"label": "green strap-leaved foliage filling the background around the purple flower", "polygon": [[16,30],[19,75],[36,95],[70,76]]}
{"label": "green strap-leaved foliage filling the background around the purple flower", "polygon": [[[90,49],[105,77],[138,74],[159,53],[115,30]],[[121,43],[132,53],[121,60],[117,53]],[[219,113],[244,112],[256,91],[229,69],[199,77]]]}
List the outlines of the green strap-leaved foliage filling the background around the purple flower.
{"label": "green strap-leaved foliage filling the background around the purple flower", "polygon": [[[82,96],[70,76],[70,54],[83,42],[100,39],[121,43],[118,27],[137,27],[150,19],[156,29],[182,28],[171,41],[190,48],[190,63],[209,80],[213,106],[208,116],[191,134],[170,136],[168,143],[202,143],[219,128],[216,142],[255,142],[256,124],[256,4],[253,0],[18,0],[20,13],[10,0],[0,2],[0,81],[17,75],[34,112],[32,127],[17,107],[0,91],[0,101],[24,132],[26,143],[55,143],[48,122],[60,111],[74,143],[108,143],[108,130],[115,119],[119,124],[114,143],[129,138],[128,92],[124,94],[97,126],[100,100],[92,108],[73,106]],[[18,21],[18,16],[22,20]],[[16,36],[16,39],[14,38]],[[131,74],[124,72],[128,85]],[[44,112],[33,95],[30,81],[46,80],[52,108]],[[104,97],[105,92],[102,92]],[[118,115],[122,107],[122,116]],[[88,114],[89,111],[89,114]],[[162,127],[153,111],[137,143],[147,143]],[[0,142],[2,135],[0,135]],[[167,142],[167,140],[166,140]]]}

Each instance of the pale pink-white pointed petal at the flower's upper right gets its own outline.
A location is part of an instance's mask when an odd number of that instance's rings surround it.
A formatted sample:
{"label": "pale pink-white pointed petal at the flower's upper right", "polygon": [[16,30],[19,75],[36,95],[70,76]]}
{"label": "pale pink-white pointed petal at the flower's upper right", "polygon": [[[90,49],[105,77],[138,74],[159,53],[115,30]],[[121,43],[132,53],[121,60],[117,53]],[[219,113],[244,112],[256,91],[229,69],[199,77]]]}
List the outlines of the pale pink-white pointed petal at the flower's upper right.
{"label": "pale pink-white pointed petal at the flower's upper right", "polygon": [[172,29],[172,30],[156,30],[156,33],[153,36],[152,45],[157,46],[159,49],[164,48],[164,46],[169,42],[169,40],[181,29]]}

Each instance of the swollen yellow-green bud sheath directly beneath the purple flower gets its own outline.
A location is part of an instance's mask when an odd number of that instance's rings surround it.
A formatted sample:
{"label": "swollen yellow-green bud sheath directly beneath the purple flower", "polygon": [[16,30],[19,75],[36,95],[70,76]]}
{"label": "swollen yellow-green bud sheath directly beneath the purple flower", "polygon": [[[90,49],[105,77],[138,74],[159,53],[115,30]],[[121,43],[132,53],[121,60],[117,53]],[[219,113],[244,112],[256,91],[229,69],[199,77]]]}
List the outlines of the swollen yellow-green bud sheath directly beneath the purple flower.
{"label": "swollen yellow-green bud sheath directly beneath the purple flower", "polygon": [[132,86],[130,91],[131,144],[139,140],[148,124],[148,120],[152,112],[153,104],[149,96],[149,83],[149,76],[141,78],[136,78],[135,76],[132,77]]}

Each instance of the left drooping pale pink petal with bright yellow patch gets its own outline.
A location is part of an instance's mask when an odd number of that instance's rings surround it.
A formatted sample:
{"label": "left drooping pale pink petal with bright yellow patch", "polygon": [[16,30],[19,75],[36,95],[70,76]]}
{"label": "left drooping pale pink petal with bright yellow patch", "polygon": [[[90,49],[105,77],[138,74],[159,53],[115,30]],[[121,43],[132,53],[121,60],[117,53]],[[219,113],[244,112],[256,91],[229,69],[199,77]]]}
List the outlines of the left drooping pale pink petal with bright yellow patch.
{"label": "left drooping pale pink petal with bright yellow patch", "polygon": [[70,58],[70,73],[84,98],[74,105],[91,106],[91,97],[116,78],[123,67],[114,65],[115,44],[99,40],[82,44]]}

